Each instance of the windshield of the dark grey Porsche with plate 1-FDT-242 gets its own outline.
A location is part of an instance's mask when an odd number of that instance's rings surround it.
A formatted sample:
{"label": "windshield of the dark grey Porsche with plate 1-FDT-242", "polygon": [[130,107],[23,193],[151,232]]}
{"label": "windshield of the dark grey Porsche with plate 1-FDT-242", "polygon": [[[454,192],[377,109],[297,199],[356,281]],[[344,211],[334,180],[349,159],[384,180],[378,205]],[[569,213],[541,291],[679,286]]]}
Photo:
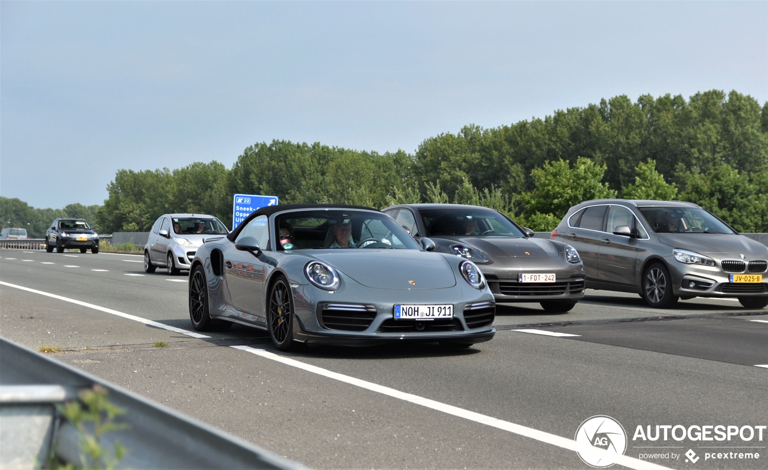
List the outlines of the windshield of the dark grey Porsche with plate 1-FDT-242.
{"label": "windshield of the dark grey Porsche with plate 1-FDT-242", "polygon": [[422,209],[419,212],[426,228],[426,237],[525,237],[514,223],[495,210],[456,207]]}

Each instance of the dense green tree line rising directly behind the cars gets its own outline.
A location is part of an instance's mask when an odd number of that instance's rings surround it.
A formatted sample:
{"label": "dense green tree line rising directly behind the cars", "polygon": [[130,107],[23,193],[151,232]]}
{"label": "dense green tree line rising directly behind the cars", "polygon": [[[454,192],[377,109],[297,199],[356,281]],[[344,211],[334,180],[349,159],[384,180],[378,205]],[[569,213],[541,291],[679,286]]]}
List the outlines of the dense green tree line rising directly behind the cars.
{"label": "dense green tree line rising directly behind the cars", "polygon": [[146,231],[162,213],[231,225],[234,193],[281,204],[478,204],[534,230],[601,197],[688,200],[737,230],[768,231],[768,103],[711,90],[689,99],[625,95],[545,118],[429,137],[413,154],[272,141],[233,167],[119,170],[97,211],[104,233]]}

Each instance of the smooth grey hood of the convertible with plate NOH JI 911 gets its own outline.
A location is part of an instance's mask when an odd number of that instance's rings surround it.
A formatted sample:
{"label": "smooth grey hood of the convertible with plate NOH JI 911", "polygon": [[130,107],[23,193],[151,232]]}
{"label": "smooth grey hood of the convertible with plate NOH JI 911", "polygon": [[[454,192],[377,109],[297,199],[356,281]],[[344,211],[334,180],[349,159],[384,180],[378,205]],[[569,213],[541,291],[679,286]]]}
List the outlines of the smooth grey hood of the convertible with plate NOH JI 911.
{"label": "smooth grey hood of the convertible with plate NOH JI 911", "polygon": [[439,253],[362,248],[327,250],[313,255],[363,286],[378,289],[445,289],[456,285],[451,265]]}

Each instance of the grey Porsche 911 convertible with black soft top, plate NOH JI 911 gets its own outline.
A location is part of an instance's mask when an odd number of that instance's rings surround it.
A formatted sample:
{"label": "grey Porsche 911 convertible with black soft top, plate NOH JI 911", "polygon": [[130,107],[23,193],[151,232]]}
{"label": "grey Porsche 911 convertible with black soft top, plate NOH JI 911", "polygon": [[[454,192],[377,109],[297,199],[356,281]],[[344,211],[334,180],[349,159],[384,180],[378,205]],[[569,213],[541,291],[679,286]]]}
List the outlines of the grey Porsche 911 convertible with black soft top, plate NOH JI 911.
{"label": "grey Porsche 911 convertible with black soft top, plate NOH JI 911", "polygon": [[495,302],[478,266],[434,248],[369,207],[262,207],[195,253],[190,319],[200,331],[266,329],[283,350],[492,339]]}

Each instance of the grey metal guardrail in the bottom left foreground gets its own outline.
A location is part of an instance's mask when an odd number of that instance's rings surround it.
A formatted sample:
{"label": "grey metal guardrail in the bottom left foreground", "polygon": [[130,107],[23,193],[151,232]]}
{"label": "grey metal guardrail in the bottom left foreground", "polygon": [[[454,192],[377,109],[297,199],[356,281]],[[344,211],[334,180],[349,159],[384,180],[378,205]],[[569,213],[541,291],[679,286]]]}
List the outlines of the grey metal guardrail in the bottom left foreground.
{"label": "grey metal guardrail in the bottom left foreground", "polygon": [[114,448],[116,441],[127,448],[119,468],[306,468],[5,338],[0,338],[0,468],[38,468],[52,455],[80,465],[78,431],[55,405],[94,384],[126,411],[116,421],[128,429],[101,438],[104,448]]}

